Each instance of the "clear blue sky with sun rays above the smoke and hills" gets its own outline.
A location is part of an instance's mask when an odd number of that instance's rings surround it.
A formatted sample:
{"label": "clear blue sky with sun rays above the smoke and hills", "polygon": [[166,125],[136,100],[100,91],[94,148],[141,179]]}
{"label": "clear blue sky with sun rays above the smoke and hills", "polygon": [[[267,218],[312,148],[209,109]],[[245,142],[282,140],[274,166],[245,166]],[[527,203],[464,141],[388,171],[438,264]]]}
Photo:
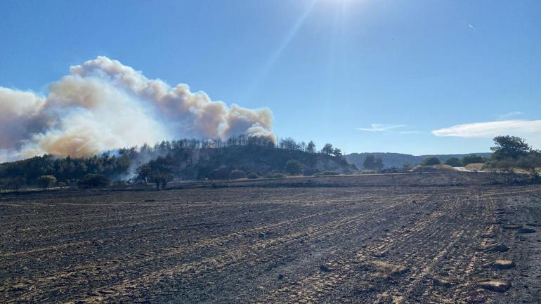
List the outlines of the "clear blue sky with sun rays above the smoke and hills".
{"label": "clear blue sky with sun rays above the smoke and hills", "polygon": [[319,147],[485,152],[513,133],[541,148],[540,12],[541,1],[5,0],[0,86],[46,94],[104,55],[268,107],[277,136]]}

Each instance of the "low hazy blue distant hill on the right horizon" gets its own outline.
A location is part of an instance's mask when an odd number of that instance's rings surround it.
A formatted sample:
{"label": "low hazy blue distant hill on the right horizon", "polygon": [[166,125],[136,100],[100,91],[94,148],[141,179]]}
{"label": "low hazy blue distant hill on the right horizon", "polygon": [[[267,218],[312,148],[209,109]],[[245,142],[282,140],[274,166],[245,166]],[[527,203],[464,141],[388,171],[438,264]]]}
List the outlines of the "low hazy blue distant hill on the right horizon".
{"label": "low hazy blue distant hill on the right horizon", "polygon": [[355,164],[358,168],[363,168],[363,161],[367,155],[374,155],[375,157],[381,157],[386,168],[390,166],[402,167],[404,164],[417,165],[420,164],[426,157],[438,157],[442,162],[451,157],[457,157],[462,159],[467,155],[476,154],[481,157],[490,157],[490,153],[467,153],[467,154],[434,154],[434,155],[412,155],[401,153],[386,153],[386,152],[374,152],[374,153],[351,153],[346,155],[346,159],[350,164]]}

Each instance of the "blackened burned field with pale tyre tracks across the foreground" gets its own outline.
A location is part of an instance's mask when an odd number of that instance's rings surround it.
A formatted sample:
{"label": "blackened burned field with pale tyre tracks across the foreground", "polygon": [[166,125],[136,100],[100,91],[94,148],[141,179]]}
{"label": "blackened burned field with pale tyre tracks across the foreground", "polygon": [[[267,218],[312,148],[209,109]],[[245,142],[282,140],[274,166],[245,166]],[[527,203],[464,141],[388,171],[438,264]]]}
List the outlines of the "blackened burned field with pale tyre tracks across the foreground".
{"label": "blackened burned field with pale tyre tracks across the foreground", "polygon": [[539,303],[541,187],[483,174],[0,196],[2,303]]}

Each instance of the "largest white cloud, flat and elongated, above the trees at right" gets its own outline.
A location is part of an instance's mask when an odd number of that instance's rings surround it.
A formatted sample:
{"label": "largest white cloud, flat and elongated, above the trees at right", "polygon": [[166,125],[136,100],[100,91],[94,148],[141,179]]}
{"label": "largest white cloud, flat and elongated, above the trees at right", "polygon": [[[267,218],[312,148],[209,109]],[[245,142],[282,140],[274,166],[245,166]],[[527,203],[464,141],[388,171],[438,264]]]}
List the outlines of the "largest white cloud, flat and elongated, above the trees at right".
{"label": "largest white cloud, flat and elongated, above the trees at right", "polygon": [[534,147],[541,147],[541,120],[502,120],[457,124],[432,131],[435,136],[461,138],[493,138],[513,135],[526,138]]}

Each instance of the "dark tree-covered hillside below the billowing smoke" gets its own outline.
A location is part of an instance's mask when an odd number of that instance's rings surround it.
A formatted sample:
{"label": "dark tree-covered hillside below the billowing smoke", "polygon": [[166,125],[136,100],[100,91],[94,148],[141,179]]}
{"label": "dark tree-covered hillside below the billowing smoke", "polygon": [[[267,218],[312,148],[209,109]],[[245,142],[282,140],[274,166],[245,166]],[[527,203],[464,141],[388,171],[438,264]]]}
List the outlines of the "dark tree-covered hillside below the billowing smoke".
{"label": "dark tree-covered hillside below the billowing smoke", "polygon": [[353,173],[341,150],[327,143],[320,151],[292,138],[235,136],[228,140],[183,139],[154,146],[129,147],[89,158],[44,155],[0,164],[0,188],[24,186],[103,187],[110,181],[155,183],[165,187],[171,180]]}

